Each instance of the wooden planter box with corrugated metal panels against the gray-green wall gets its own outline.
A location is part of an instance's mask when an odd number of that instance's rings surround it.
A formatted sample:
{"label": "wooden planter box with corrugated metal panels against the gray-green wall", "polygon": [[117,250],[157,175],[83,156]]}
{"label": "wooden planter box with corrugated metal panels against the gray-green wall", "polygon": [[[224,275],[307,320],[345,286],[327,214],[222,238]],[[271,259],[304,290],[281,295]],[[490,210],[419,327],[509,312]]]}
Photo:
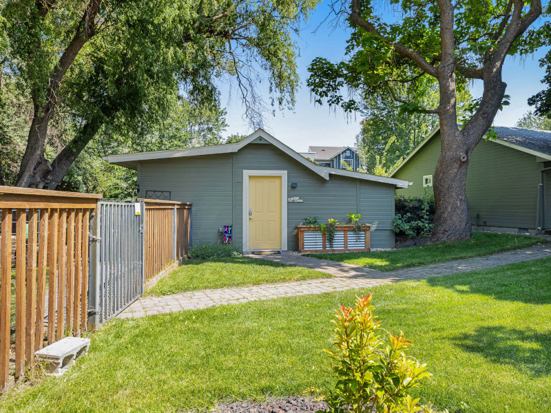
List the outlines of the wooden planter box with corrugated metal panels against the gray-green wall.
{"label": "wooden planter box with corrugated metal panels against the gray-green wall", "polygon": [[355,233],[352,225],[337,225],[333,245],[329,245],[326,234],[319,228],[297,225],[299,253],[345,253],[369,251],[369,230],[371,225],[362,225],[362,231]]}

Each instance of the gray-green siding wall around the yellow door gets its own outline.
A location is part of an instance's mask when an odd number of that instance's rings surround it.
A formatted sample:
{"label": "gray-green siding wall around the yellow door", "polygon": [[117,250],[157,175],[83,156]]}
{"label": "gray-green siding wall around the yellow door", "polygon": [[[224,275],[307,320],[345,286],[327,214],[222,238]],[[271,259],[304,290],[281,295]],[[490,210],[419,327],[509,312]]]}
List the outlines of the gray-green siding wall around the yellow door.
{"label": "gray-green siding wall around the yellow door", "polygon": [[[297,249],[296,225],[305,217],[346,222],[351,212],[364,214],[362,222],[373,224],[373,248],[394,246],[393,185],[335,175],[325,180],[268,143],[251,143],[225,155],[143,161],[138,183],[141,194],[171,191],[171,200],[193,203],[194,245],[216,244],[218,228],[232,224],[233,244],[241,248],[244,169],[287,171],[287,197],[303,200],[287,204],[289,250]],[[297,188],[291,188],[293,182]]]}

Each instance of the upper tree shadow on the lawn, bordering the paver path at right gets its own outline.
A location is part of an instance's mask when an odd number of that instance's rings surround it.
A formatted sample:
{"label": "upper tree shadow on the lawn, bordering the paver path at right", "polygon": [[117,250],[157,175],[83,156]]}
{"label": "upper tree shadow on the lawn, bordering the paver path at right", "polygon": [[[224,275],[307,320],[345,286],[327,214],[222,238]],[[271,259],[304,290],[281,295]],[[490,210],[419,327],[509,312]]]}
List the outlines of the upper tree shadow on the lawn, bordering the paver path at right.
{"label": "upper tree shadow on the lawn, bordering the paver path at right", "polygon": [[459,294],[481,294],[502,301],[551,304],[551,257],[497,268],[431,277],[427,284]]}

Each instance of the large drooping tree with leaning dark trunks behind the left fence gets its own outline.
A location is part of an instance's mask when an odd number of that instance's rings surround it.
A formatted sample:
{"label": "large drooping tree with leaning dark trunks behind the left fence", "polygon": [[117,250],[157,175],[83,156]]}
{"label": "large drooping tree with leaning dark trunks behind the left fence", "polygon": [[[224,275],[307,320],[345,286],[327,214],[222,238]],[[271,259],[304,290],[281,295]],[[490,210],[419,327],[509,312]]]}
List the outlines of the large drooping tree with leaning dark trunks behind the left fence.
{"label": "large drooping tree with leaning dark trunks behind the left fence", "polygon": [[[168,116],[166,97],[180,91],[213,103],[220,77],[236,79],[253,123],[262,117],[255,86],[264,77],[272,103],[292,106],[298,75],[291,32],[316,3],[8,1],[2,70],[17,76],[33,108],[17,186],[54,189],[102,128],[125,125],[136,134]],[[51,160],[46,138],[60,110],[79,128]]]}

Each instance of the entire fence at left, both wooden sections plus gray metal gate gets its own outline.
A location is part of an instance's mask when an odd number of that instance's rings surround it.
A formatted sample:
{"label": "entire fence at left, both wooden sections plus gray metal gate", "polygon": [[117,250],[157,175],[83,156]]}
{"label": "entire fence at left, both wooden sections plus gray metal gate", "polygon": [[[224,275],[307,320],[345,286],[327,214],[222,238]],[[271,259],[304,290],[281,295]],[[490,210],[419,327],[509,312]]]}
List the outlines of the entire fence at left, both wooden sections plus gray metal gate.
{"label": "entire fence at left, both wooden sections plus gray metal gate", "polygon": [[0,186],[0,393],[45,343],[96,328],[139,297],[185,257],[190,235],[186,202]]}

